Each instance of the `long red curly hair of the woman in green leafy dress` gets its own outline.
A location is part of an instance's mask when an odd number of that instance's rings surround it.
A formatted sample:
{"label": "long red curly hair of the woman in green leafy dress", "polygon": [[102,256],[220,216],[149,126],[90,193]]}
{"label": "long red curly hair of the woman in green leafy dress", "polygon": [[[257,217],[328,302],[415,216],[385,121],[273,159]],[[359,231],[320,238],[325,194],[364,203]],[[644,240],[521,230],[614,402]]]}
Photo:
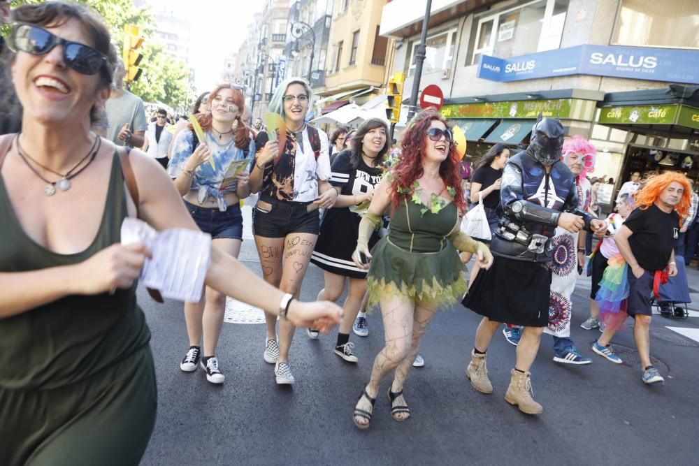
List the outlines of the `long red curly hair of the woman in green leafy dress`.
{"label": "long red curly hair of the woman in green leafy dress", "polygon": [[[398,207],[403,198],[412,197],[415,192],[412,183],[424,174],[422,164],[428,141],[427,130],[430,128],[431,122],[435,120],[444,123],[447,129],[450,128],[447,120],[440,113],[428,108],[415,115],[408,124],[408,129],[403,133],[401,156],[398,157],[398,162],[391,170],[394,209]],[[456,145],[453,142],[449,144],[447,158],[440,164],[439,174],[447,187],[452,187],[456,191],[454,203],[456,203],[459,213],[463,215],[466,212],[466,201],[463,198],[463,189],[461,188],[461,160],[456,153]]]}

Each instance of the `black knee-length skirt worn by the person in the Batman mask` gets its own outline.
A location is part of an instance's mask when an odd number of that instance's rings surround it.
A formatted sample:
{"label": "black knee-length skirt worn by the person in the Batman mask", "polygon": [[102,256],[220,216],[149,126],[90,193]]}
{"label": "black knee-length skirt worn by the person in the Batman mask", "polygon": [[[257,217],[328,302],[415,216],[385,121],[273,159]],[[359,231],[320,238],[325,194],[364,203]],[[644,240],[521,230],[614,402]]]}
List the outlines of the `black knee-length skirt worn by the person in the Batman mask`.
{"label": "black knee-length skirt worn by the person in the Batman mask", "polygon": [[496,256],[491,268],[478,271],[461,303],[491,321],[545,327],[550,289],[547,263]]}

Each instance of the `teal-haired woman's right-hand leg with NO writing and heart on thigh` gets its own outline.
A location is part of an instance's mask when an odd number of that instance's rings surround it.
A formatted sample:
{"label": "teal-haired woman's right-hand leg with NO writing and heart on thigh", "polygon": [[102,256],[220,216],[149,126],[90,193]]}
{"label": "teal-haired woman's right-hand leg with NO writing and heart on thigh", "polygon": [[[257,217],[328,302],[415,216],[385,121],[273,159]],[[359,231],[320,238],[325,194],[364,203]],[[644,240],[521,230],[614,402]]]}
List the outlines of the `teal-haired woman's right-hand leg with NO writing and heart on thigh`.
{"label": "teal-haired woman's right-hand leg with NO writing and heart on thigh", "polygon": [[[310,256],[313,253],[318,235],[310,233],[291,233],[284,240],[284,267],[282,268],[282,280],[279,289],[284,293],[291,293],[296,298],[301,292],[301,282]],[[294,338],[296,327],[289,321],[279,322],[279,359],[280,362],[289,361],[289,347]]]}

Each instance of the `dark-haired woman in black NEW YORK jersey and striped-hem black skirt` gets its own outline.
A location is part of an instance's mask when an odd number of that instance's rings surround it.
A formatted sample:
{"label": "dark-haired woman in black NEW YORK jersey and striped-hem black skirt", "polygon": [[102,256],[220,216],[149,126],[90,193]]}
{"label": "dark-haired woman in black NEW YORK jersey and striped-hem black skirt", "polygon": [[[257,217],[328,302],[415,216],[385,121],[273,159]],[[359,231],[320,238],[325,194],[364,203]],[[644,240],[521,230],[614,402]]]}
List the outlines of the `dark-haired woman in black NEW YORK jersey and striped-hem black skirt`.
{"label": "dark-haired woman in black NEW YORK jersey and striped-hem black skirt", "polygon": [[[352,263],[352,252],[356,246],[359,216],[366,211],[383,174],[382,163],[389,149],[388,132],[386,123],[370,118],[357,129],[352,150],[338,154],[330,182],[341,189],[340,196],[335,206],[323,213],[318,244],[310,260],[324,270],[325,287],[318,293],[318,299],[337,301],[345,293],[345,280],[349,279],[343,305],[345,316],[335,345],[335,354],[348,363],[357,361],[349,332],[366,293],[366,270]],[[372,235],[369,247],[377,241],[378,235]]]}

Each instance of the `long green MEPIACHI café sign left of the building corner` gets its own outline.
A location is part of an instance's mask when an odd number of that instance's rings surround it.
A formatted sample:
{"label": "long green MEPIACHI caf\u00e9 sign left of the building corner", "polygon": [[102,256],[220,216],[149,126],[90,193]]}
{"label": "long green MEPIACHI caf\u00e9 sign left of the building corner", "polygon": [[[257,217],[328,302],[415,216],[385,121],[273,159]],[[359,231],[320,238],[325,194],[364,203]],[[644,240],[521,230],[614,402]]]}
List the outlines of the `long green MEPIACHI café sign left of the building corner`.
{"label": "long green MEPIACHI caf\u00e9 sign left of the building corner", "polygon": [[568,118],[573,99],[541,101],[503,101],[480,103],[454,103],[443,105],[445,118],[536,118],[539,112],[544,117]]}

